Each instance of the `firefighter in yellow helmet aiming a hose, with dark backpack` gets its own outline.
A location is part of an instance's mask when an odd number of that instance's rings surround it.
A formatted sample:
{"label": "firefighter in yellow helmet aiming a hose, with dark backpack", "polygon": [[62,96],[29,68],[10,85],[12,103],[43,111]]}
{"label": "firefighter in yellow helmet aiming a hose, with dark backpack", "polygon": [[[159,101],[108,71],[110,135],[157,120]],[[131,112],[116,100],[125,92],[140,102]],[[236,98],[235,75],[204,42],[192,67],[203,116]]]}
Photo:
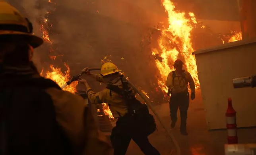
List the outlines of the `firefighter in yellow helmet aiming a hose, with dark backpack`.
{"label": "firefighter in yellow helmet aiming a hose, with dark backpack", "polygon": [[83,72],[107,85],[98,93],[90,88],[85,79],[79,81],[85,84],[91,103],[108,103],[111,109],[118,113],[116,127],[111,133],[114,155],[125,155],[131,139],[145,155],[160,155],[147,138],[156,129],[155,119],[149,114],[147,105],[135,98],[136,92],[128,85],[126,77],[119,74],[120,71],[111,62],[101,66],[101,75],[91,74],[88,68],[85,68]]}

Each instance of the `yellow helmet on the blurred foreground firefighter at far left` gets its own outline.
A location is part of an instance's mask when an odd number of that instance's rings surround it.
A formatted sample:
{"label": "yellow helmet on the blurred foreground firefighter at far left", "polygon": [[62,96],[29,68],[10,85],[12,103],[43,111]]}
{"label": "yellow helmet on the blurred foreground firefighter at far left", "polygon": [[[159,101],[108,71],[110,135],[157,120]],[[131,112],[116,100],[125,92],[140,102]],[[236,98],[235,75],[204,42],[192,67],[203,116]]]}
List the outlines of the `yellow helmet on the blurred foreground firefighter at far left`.
{"label": "yellow helmet on the blurred foreground firefighter at far left", "polygon": [[33,48],[43,44],[43,39],[33,35],[33,26],[21,13],[5,2],[0,0],[0,38],[21,36]]}

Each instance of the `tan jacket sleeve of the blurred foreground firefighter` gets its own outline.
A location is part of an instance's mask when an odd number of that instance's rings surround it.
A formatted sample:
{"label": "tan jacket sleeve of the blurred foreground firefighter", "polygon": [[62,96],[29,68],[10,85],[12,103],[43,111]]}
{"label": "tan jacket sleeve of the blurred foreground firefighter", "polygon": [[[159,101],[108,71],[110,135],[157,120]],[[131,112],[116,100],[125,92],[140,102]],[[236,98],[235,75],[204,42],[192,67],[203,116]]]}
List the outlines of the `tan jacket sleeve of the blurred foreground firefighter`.
{"label": "tan jacket sleeve of the blurred foreground firefighter", "polygon": [[96,127],[91,110],[83,98],[56,88],[46,89],[51,96],[56,120],[77,155],[112,155],[111,144]]}

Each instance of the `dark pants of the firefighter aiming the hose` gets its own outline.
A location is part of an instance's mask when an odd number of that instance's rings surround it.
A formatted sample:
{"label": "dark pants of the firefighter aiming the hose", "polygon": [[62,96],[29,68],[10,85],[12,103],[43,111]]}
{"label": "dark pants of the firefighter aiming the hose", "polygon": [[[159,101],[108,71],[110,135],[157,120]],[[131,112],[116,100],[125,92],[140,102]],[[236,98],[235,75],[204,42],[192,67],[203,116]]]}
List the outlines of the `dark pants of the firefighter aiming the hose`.
{"label": "dark pants of the firefighter aiming the hose", "polygon": [[[118,120],[119,121],[119,120]],[[114,147],[114,155],[125,155],[131,139],[140,147],[145,155],[160,155],[153,147],[145,134],[140,134],[134,129],[122,129],[116,123],[116,127],[112,130],[111,142]]]}

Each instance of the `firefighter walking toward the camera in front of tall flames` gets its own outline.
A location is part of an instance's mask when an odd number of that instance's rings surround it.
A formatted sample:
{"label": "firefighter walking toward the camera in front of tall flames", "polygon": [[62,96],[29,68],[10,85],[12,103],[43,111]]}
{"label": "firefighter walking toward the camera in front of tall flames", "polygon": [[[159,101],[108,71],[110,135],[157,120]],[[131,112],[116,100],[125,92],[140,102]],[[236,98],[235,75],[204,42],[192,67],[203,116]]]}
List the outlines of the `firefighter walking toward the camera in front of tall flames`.
{"label": "firefighter walking toward the camera in front of tall flames", "polygon": [[177,59],[174,62],[175,71],[169,73],[166,85],[169,89],[171,128],[175,127],[177,121],[177,111],[180,109],[180,133],[188,135],[186,131],[187,111],[189,105],[188,83],[191,89],[191,100],[195,99],[195,83],[189,72],[182,70],[183,62]]}

